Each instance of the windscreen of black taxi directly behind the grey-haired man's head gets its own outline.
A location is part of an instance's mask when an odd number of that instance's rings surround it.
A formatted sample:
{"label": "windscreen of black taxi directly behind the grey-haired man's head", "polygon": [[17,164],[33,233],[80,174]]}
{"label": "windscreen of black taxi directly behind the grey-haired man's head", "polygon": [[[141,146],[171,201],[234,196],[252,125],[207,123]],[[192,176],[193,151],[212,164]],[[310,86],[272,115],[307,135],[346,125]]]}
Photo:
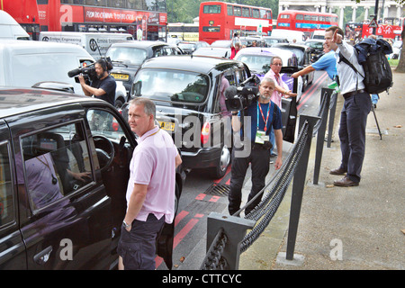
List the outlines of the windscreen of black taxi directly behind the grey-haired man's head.
{"label": "windscreen of black taxi directly behind the grey-haired man's head", "polygon": [[180,70],[142,69],[134,81],[133,95],[155,101],[203,103],[210,86],[208,76]]}

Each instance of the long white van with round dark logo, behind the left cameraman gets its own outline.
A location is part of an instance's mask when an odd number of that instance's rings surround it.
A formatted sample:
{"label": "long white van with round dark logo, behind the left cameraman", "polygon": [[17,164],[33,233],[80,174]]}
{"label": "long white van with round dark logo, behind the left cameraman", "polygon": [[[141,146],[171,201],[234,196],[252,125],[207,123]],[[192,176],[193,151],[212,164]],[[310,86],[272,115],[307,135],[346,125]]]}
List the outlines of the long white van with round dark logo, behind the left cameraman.
{"label": "long white van with round dark logo, behind the left cameraman", "polygon": [[129,33],[41,31],[40,41],[71,43],[83,47],[94,59],[102,58],[112,43],[133,40]]}

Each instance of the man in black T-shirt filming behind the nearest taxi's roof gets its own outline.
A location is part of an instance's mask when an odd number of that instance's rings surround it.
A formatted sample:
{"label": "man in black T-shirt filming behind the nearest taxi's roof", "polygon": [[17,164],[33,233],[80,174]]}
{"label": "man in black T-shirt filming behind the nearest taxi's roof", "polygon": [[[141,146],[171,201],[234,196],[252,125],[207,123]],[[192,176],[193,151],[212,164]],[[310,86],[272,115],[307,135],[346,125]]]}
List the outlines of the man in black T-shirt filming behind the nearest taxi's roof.
{"label": "man in black T-shirt filming behind the nearest taxi's roof", "polygon": [[94,95],[95,98],[102,99],[114,105],[115,103],[115,88],[117,84],[115,79],[110,76],[109,70],[112,69],[110,63],[103,58],[98,59],[94,64],[96,77],[92,79],[91,85],[85,84],[85,78],[82,74],[78,76],[80,85],[86,96]]}

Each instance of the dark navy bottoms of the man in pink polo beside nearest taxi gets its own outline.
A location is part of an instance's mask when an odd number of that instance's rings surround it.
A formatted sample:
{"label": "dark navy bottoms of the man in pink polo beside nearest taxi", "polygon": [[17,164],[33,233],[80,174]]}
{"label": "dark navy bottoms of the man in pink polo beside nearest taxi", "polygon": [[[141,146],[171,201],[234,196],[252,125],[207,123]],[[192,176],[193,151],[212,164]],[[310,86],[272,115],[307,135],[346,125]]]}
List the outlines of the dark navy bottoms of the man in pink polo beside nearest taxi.
{"label": "dark navy bottoms of the man in pink polo beside nearest taxi", "polygon": [[128,231],[121,228],[118,255],[125,270],[155,270],[157,233],[165,223],[165,216],[157,220],[150,213],[146,221],[133,220]]}

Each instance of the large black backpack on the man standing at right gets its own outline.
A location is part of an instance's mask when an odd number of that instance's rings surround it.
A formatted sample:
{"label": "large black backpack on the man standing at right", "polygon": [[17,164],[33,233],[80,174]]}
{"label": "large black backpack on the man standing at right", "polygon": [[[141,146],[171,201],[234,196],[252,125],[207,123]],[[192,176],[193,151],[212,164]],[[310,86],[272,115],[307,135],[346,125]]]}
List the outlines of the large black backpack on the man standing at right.
{"label": "large black backpack on the man standing at right", "polygon": [[392,70],[385,55],[392,53],[390,43],[382,39],[367,38],[357,43],[355,49],[358,63],[365,69],[365,75],[359,73],[356,67],[347,58],[344,58],[341,53],[339,53],[339,62],[345,62],[364,78],[363,82],[367,93],[380,94],[383,91],[388,92],[388,89],[392,87]]}

